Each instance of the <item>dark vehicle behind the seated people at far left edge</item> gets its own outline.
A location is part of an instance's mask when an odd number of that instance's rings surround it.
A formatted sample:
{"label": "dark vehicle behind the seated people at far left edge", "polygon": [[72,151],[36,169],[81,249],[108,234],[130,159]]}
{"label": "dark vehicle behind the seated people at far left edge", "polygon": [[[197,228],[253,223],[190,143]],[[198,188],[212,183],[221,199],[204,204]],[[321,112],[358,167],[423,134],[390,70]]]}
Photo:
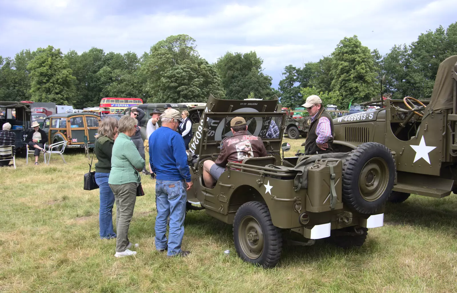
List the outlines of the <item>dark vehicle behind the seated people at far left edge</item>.
{"label": "dark vehicle behind the seated people at far left edge", "polygon": [[[0,102],[0,127],[9,122],[11,131],[16,135],[14,143],[16,150],[25,151],[27,131],[31,131],[32,117],[30,103],[1,101]],[[0,128],[2,129],[2,128]]]}

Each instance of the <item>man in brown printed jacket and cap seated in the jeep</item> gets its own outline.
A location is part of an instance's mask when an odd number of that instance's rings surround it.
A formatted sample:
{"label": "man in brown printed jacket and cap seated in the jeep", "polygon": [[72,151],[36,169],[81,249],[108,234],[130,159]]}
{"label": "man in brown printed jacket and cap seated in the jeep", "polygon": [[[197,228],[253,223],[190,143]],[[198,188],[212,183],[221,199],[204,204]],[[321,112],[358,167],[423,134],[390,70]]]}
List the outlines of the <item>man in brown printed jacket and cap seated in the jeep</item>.
{"label": "man in brown printed jacket and cap seated in the jeep", "polygon": [[225,171],[227,162],[241,163],[250,157],[266,157],[262,139],[248,134],[248,126],[243,117],[234,117],[230,121],[233,136],[221,142],[221,151],[216,162],[206,160],[203,163],[203,181],[207,188],[213,188],[215,181]]}

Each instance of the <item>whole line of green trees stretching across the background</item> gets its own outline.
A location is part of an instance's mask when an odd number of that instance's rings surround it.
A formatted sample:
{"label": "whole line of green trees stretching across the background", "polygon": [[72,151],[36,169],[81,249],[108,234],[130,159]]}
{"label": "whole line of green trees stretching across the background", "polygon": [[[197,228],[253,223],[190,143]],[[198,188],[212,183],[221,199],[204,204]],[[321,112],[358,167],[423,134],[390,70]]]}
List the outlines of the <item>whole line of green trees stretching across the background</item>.
{"label": "whole line of green trees stretching across the background", "polygon": [[430,98],[439,63],[457,54],[457,22],[447,29],[420,34],[409,45],[395,45],[381,56],[363,46],[357,36],[345,37],[335,51],[302,67],[287,65],[279,88],[263,73],[255,52],[227,52],[210,64],[195,40],[187,35],[167,37],[138,56],[104,52],[92,47],[78,54],[48,46],[0,56],[0,100],[33,100],[74,105],[99,105],[104,97],[135,97],[144,103],[205,102],[209,94],[226,99],[281,97],[283,106],[303,104],[318,94],[326,104],[344,109],[380,97]]}

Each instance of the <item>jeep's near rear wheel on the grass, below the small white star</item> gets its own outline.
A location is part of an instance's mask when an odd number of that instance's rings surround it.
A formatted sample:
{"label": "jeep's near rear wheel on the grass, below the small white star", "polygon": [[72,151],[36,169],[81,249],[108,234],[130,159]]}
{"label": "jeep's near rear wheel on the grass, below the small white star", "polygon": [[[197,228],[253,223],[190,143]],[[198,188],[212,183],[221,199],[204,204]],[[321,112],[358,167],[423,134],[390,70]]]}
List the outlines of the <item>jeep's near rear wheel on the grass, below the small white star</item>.
{"label": "jeep's near rear wheel on the grass, below the small white star", "polygon": [[238,256],[261,267],[275,267],[281,258],[282,235],[271,222],[266,204],[250,201],[239,207],[233,222]]}

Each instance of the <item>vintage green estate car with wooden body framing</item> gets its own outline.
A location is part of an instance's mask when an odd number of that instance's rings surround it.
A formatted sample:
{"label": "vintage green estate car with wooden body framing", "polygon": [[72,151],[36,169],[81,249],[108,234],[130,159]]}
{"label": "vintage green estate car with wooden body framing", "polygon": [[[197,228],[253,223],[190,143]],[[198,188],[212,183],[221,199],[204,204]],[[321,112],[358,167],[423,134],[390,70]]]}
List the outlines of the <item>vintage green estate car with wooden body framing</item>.
{"label": "vintage green estate car with wooden body framing", "polygon": [[67,147],[84,147],[85,136],[89,147],[95,145],[100,116],[93,113],[61,113],[46,117],[43,131],[48,134],[49,143],[68,141]]}

